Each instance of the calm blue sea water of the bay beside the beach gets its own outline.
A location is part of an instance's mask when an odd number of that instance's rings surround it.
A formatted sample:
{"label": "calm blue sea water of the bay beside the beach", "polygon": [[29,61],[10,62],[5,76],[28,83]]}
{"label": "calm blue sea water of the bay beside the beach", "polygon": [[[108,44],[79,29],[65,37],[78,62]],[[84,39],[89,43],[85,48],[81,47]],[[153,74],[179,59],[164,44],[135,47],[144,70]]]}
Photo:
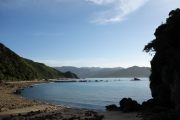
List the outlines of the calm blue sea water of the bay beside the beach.
{"label": "calm blue sea water of the bay beside the beach", "polygon": [[[151,98],[148,78],[89,78],[91,82],[51,82],[34,85],[22,91],[22,96],[57,105],[93,110],[105,110],[106,105],[119,104],[123,97],[142,103]],[[95,82],[101,80],[101,82]]]}

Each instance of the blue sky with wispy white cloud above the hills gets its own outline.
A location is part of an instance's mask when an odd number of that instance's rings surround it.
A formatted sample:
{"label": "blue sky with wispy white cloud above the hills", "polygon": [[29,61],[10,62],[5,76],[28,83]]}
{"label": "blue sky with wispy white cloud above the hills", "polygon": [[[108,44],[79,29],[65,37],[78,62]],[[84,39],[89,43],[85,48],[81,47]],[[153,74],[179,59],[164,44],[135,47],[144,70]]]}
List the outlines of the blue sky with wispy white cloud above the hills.
{"label": "blue sky with wispy white cloud above the hills", "polygon": [[49,66],[150,66],[143,52],[180,0],[0,0],[0,42]]}

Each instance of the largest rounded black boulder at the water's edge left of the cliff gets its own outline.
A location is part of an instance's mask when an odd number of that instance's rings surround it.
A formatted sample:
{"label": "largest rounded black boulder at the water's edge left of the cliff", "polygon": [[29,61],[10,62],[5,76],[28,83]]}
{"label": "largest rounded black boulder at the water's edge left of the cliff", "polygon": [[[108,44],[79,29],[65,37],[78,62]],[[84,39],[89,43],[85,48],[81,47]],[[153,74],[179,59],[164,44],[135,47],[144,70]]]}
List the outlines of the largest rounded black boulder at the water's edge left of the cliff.
{"label": "largest rounded black boulder at the water's edge left of the cliff", "polygon": [[140,110],[141,105],[131,98],[123,98],[120,101],[120,110],[123,112],[134,112]]}

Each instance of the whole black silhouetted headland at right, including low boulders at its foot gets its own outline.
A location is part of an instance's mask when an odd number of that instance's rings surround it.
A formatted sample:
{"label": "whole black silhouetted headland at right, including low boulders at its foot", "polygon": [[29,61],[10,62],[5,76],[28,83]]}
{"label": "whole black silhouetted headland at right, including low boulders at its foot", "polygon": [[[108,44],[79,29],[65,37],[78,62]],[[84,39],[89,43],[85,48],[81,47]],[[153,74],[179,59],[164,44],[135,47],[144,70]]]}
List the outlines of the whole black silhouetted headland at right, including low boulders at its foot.
{"label": "whole black silhouetted headland at right, including low boulders at its foot", "polygon": [[106,106],[110,111],[139,111],[144,120],[180,120],[180,9],[172,10],[166,23],[154,33],[155,39],[144,50],[151,60],[150,89],[152,99],[141,105],[124,98],[120,106]]}

